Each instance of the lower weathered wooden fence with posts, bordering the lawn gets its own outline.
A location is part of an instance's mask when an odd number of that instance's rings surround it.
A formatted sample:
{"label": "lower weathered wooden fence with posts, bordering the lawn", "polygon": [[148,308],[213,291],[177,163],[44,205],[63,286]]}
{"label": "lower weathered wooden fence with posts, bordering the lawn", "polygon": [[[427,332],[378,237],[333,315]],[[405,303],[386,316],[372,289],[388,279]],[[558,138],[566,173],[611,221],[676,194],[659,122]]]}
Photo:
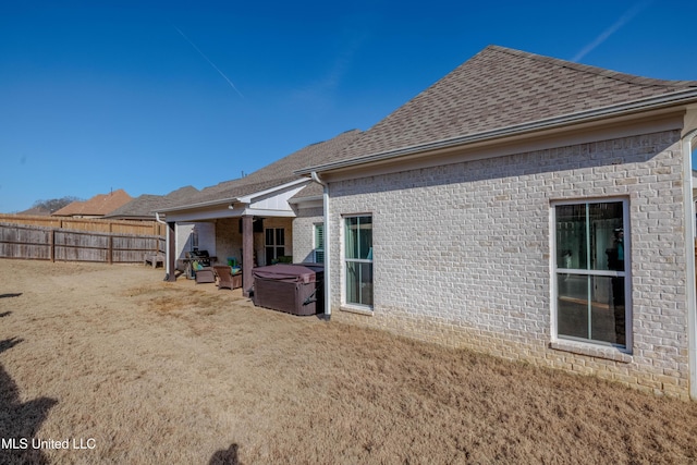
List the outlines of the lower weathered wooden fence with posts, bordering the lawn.
{"label": "lower weathered wooden fence with posts, bordering the lawn", "polygon": [[143,262],[163,253],[164,237],[0,223],[0,258],[51,261]]}

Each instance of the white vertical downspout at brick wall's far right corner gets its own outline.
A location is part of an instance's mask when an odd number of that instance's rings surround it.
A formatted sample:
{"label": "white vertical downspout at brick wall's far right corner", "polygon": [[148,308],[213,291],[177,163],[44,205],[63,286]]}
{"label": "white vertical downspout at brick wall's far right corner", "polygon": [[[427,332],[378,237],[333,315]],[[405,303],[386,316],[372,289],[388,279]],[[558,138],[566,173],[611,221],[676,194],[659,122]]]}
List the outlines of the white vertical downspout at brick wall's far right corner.
{"label": "white vertical downspout at brick wall's far right corner", "polygon": [[689,367],[689,397],[697,400],[697,303],[695,296],[695,203],[693,200],[692,154],[697,131],[683,137],[683,186],[685,198],[685,297],[687,305],[687,364]]}

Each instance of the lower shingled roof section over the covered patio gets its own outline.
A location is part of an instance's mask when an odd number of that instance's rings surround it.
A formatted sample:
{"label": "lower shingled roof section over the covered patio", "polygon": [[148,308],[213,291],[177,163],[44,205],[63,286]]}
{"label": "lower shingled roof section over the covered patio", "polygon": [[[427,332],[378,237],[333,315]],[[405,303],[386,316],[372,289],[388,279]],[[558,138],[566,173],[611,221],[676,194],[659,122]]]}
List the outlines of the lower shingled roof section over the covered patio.
{"label": "lower shingled roof section over the covered patio", "polygon": [[244,178],[206,187],[198,194],[158,211],[216,201],[230,201],[301,180],[302,176],[295,174],[295,171],[308,164],[321,163],[325,160],[332,159],[335,152],[354,142],[359,134],[360,131],[358,130],[346,131],[329,140],[311,144]]}

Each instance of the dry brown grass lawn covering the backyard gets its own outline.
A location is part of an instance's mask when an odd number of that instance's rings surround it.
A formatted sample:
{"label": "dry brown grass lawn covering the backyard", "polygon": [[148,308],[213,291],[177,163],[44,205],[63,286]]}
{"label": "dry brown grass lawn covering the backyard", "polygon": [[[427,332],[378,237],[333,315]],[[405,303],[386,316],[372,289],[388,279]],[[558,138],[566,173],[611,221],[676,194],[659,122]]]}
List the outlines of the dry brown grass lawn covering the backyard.
{"label": "dry brown grass lawn covering the backyard", "polygon": [[0,260],[1,463],[694,463],[697,405],[255,308],[147,267]]}

